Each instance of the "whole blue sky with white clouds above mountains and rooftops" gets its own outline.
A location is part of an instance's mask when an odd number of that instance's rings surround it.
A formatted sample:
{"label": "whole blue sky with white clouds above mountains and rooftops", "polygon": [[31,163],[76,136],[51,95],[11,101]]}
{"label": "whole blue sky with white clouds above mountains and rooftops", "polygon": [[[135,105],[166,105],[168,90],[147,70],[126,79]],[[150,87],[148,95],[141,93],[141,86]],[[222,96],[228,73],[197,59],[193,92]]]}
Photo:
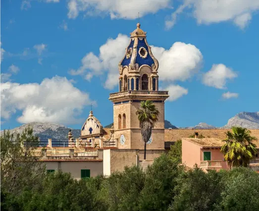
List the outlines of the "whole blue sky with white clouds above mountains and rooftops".
{"label": "whole blue sky with white clouds above mountains and rooftops", "polygon": [[103,126],[111,123],[108,97],[138,12],[160,90],[169,90],[165,119],[219,127],[258,111],[258,11],[254,0],[1,1],[1,129],[80,128],[91,104]]}

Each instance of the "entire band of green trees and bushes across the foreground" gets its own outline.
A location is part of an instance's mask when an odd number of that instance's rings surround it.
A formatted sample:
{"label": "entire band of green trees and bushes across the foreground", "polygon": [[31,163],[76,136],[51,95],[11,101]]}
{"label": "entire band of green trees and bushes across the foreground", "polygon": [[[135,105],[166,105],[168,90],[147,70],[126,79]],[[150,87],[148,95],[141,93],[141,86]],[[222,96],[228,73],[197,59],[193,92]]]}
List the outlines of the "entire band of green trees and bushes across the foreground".
{"label": "entire band of green trees and bushes across the foreground", "polygon": [[132,166],[75,180],[61,171],[36,173],[39,162],[33,147],[21,149],[23,140],[37,142],[31,130],[1,137],[1,211],[259,211],[259,173],[187,169],[179,163],[180,141],[145,171]]}

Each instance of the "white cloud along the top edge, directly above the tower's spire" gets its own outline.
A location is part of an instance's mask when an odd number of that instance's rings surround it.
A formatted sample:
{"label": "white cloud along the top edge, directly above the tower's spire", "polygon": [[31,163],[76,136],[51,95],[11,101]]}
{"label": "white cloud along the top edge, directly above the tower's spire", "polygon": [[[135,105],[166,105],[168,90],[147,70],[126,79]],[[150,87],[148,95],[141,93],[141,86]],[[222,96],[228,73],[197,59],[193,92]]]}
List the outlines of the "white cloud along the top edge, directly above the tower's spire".
{"label": "white cloud along the top edge, directly above the tower's spire", "polygon": [[69,0],[68,17],[76,18],[80,12],[86,15],[109,14],[110,18],[135,19],[170,8],[171,0]]}

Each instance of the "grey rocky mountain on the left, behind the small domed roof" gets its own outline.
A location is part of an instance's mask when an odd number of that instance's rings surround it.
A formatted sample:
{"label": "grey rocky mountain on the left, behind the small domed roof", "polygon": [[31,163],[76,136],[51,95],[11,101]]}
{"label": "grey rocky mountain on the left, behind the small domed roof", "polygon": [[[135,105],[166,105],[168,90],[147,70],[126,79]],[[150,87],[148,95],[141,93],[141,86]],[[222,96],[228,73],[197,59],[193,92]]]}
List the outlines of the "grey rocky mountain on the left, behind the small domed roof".
{"label": "grey rocky mountain on the left, behind the small domed roof", "polygon": [[[31,122],[23,124],[20,127],[11,129],[11,133],[21,133],[26,127],[32,127],[34,135],[39,136],[40,139],[67,139],[69,130],[71,130],[74,139],[81,135],[80,129],[71,129],[61,124],[55,124],[50,122]],[[1,131],[2,133],[3,131]]]}

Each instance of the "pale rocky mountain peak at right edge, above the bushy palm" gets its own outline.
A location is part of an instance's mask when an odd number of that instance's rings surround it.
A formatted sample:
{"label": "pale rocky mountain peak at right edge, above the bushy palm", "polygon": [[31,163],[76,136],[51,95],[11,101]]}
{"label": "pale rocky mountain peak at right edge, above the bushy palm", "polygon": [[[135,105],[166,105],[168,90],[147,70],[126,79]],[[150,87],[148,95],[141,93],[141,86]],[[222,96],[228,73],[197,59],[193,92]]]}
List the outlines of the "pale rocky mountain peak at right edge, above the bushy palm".
{"label": "pale rocky mountain peak at right edge, above the bushy palm", "polygon": [[224,128],[240,126],[249,129],[259,129],[259,111],[257,112],[240,112],[230,118]]}

